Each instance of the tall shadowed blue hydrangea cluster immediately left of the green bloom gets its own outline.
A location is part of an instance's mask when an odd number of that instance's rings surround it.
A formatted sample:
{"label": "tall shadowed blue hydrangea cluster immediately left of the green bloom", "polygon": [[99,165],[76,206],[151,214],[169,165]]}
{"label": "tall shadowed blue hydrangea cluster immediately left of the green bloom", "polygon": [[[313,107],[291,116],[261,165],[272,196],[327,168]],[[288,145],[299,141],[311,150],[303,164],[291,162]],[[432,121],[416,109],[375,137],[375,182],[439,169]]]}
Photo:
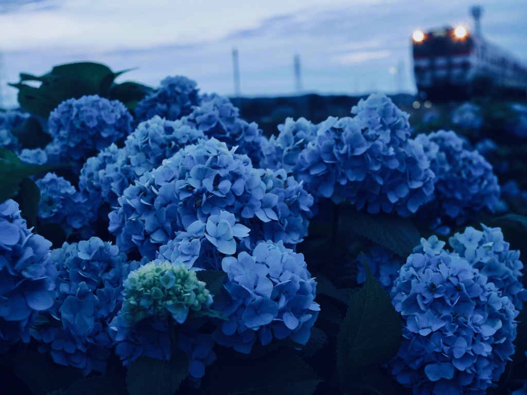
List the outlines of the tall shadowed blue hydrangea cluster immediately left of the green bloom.
{"label": "tall shadowed blue hydrangea cluster immediately left of the green bloom", "polygon": [[92,370],[104,374],[114,345],[109,323],[118,309],[121,278],[137,264],[97,237],[64,243],[52,251],[51,261],[59,273],[55,303],[33,333],[38,351],[85,376]]}

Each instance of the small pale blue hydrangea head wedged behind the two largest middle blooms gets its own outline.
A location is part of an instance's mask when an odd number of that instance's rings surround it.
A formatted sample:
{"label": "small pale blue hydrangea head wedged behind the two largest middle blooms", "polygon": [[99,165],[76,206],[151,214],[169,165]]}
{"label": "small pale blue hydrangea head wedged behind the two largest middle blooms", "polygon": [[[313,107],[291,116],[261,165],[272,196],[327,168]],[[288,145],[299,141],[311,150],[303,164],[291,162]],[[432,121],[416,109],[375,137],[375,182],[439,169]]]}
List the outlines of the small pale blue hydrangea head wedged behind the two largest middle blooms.
{"label": "small pale blue hydrangea head wedged behind the two largest middle blooms", "polygon": [[307,143],[315,140],[317,125],[306,118],[286,118],[278,125],[278,136],[272,135],[267,144],[262,147],[264,159],[261,166],[269,169],[284,169],[292,174],[297,163],[298,155],[305,149]]}

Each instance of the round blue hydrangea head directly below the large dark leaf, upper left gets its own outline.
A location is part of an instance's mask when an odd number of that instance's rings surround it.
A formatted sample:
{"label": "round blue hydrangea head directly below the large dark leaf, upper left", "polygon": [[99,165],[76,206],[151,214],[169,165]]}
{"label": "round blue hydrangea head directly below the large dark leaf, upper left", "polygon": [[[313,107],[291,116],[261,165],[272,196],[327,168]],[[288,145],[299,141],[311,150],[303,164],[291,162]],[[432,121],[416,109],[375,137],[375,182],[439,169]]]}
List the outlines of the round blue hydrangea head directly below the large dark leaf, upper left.
{"label": "round blue hydrangea head directly below the large dark leaf, upper left", "polygon": [[132,116],[124,104],[104,97],[82,96],[59,104],[51,112],[46,146],[48,160],[77,162],[115,143],[131,132]]}

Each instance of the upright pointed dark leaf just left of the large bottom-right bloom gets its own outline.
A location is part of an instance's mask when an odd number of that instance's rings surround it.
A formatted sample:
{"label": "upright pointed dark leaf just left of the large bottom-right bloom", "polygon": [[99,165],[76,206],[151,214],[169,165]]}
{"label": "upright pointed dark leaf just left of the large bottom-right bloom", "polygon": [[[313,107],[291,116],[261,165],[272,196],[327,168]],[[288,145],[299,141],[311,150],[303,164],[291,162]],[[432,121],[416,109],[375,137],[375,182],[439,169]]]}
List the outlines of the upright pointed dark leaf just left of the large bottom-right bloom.
{"label": "upright pointed dark leaf just left of the large bottom-right bloom", "polygon": [[337,337],[337,366],[343,389],[355,368],[388,361],[397,352],[403,332],[401,319],[388,294],[375,281],[368,264],[366,283],[349,300]]}

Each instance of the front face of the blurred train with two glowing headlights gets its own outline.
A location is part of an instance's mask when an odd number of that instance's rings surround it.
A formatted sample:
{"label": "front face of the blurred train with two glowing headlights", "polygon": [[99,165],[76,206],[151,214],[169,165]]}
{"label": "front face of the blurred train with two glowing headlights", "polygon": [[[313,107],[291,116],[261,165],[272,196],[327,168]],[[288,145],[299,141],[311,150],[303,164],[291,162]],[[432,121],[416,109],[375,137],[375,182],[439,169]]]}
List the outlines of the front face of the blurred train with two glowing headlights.
{"label": "front face of the blurred train with two glowing headlights", "polygon": [[464,27],[416,31],[412,48],[419,98],[446,100],[470,96],[473,38]]}

